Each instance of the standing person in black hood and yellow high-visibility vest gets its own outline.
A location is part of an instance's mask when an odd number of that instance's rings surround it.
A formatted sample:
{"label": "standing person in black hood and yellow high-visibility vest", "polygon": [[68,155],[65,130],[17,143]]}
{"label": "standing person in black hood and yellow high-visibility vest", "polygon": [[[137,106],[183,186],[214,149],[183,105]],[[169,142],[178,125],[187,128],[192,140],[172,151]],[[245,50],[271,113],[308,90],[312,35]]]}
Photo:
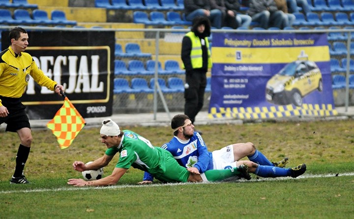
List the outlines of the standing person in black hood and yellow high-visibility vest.
{"label": "standing person in black hood and yellow high-visibility vest", "polygon": [[191,31],[182,39],[181,59],[186,72],[184,114],[192,123],[203,107],[207,70],[212,66],[208,36],[210,21],[206,17],[196,17]]}

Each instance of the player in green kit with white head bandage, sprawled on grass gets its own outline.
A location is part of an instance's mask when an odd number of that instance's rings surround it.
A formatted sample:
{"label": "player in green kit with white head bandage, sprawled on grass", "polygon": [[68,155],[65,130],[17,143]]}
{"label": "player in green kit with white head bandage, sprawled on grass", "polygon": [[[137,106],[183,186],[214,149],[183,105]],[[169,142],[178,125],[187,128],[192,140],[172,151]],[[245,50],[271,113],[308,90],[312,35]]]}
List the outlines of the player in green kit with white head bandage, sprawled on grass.
{"label": "player in green kit with white head bandage, sprawled on grass", "polygon": [[208,170],[195,174],[180,166],[172,154],[160,147],[154,147],[150,141],[130,130],[120,131],[119,126],[111,119],[102,122],[100,130],[101,142],[107,146],[105,154],[85,165],[82,161],[74,161],[77,171],[98,169],[107,166],[112,158],[119,153],[118,163],[110,176],[94,181],[69,179],[73,186],[109,186],[115,185],[130,166],[151,173],[162,182],[214,182],[239,176],[251,179],[247,167],[240,165],[233,169]]}

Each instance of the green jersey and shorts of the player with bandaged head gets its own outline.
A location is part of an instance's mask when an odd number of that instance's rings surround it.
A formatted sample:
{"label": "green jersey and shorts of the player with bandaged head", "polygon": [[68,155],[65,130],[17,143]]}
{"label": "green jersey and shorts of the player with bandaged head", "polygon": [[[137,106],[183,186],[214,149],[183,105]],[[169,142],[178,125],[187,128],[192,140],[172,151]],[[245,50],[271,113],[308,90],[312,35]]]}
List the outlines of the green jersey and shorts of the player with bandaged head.
{"label": "green jersey and shorts of the player with bandaged head", "polygon": [[151,173],[156,179],[165,182],[187,182],[189,172],[181,167],[172,154],[139,134],[123,130],[124,134],[118,147],[106,150],[106,155],[114,156],[119,152],[117,168],[130,166]]}

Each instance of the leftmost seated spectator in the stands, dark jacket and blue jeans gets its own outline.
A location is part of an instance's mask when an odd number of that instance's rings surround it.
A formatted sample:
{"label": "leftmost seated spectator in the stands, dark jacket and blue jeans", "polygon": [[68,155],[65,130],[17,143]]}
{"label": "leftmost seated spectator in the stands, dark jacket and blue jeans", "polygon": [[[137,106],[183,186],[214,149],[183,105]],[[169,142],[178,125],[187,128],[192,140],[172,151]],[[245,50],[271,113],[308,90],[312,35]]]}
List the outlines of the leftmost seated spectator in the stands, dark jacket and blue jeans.
{"label": "leftmost seated spectator in the stands, dark jacket and blue jeans", "polygon": [[206,16],[212,27],[221,28],[222,12],[219,9],[210,10],[209,0],[183,0],[184,13],[187,21],[193,21],[196,17]]}

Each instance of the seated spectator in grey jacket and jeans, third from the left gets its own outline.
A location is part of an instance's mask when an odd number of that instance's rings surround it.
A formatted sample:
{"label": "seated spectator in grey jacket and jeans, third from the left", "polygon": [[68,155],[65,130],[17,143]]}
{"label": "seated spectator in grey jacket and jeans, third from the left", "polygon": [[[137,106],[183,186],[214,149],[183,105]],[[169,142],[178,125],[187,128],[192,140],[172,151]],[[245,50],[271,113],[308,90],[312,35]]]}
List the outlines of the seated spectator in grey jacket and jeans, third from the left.
{"label": "seated spectator in grey jacket and jeans, third from the left", "polygon": [[249,6],[248,15],[252,17],[252,21],[258,22],[261,28],[281,28],[283,12],[278,10],[273,0],[251,0]]}

